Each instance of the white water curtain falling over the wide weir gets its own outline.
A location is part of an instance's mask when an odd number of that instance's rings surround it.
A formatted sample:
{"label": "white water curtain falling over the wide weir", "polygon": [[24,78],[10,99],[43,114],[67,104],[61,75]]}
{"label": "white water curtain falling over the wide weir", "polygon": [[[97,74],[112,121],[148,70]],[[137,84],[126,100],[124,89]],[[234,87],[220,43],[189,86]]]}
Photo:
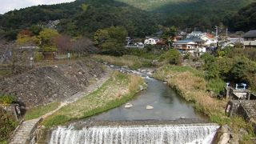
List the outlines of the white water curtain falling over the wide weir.
{"label": "white water curtain falling over the wide weir", "polygon": [[50,144],[150,144],[211,143],[218,130],[215,124],[92,126],[76,130],[74,126],[53,130]]}

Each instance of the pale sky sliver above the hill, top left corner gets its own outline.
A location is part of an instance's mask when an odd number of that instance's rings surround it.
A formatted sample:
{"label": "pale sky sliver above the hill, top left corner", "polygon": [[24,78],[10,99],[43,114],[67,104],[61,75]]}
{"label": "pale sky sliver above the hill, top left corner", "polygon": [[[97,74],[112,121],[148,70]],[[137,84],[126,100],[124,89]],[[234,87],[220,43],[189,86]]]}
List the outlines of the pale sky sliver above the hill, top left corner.
{"label": "pale sky sliver above the hill, top left corner", "polygon": [[74,0],[0,0],[0,14],[10,10],[21,9],[28,6],[50,5],[62,2],[73,2]]}

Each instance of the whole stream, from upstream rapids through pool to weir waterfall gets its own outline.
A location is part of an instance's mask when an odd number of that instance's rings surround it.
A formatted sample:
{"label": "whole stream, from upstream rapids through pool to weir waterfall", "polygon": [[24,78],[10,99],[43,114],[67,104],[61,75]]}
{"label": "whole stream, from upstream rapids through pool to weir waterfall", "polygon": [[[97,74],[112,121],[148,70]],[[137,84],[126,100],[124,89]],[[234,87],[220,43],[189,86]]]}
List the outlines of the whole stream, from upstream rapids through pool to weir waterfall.
{"label": "whole stream, from upstream rapids through pool to weir waterfall", "polygon": [[[113,68],[113,66],[112,66]],[[122,72],[123,70],[115,67]],[[92,118],[74,122],[69,126],[59,126],[50,136],[51,144],[147,144],[147,143],[210,143],[218,130],[218,125],[212,123],[196,124],[170,124],[158,122],[147,124],[148,120],[172,121],[182,119],[203,119],[202,115],[195,113],[193,106],[182,99],[165,83],[138,71],[130,72],[140,74],[145,78],[147,90],[142,91],[129,103],[133,106],[125,108],[119,106]],[[154,109],[146,110],[146,106]],[[122,125],[94,125],[86,126],[86,122],[110,121],[140,121],[135,124]],[[143,121],[145,121],[143,124]],[[78,124],[80,123],[80,124]],[[81,124],[82,123],[82,124]]]}

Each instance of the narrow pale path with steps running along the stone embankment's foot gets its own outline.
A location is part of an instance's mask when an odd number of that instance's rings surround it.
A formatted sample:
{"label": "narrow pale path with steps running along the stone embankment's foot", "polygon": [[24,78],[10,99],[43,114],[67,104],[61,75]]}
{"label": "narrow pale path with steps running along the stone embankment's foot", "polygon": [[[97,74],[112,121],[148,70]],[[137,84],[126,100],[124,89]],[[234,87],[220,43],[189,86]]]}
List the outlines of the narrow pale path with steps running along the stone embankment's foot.
{"label": "narrow pale path with steps running along the stone embankment's foot", "polygon": [[77,101],[79,98],[82,98],[87,94],[90,94],[94,90],[98,90],[98,88],[102,86],[102,84],[110,78],[110,73],[111,73],[111,70],[106,70],[106,74],[104,74],[102,78],[100,78],[97,82],[90,84],[88,87],[86,87],[86,90],[82,92],[78,92],[77,94],[74,94],[70,98],[63,100],[63,102],[61,102],[61,105],[58,106],[56,110],[50,111],[49,113],[43,115],[41,118],[22,122],[22,124],[18,126],[17,129],[14,131],[14,135],[10,139],[9,143],[10,144],[29,143],[33,137],[34,130],[37,128],[38,123],[41,122],[43,118],[46,118],[51,114],[54,114],[56,111],[60,110],[63,106],[66,106],[69,103]]}

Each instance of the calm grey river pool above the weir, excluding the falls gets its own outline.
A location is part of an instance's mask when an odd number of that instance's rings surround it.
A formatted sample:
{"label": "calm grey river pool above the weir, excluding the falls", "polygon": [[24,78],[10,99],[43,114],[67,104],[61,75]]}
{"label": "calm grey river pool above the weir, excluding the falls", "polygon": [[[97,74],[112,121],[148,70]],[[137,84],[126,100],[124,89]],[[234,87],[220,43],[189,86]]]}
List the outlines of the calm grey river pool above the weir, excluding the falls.
{"label": "calm grey river pool above the weir, excluding the falls", "polygon": [[[129,103],[133,107],[119,106],[113,110],[98,114],[92,119],[105,121],[124,120],[174,120],[178,118],[202,118],[193,106],[181,98],[165,83],[154,78],[145,78],[147,90],[142,91]],[[146,106],[154,109],[146,110]]]}

